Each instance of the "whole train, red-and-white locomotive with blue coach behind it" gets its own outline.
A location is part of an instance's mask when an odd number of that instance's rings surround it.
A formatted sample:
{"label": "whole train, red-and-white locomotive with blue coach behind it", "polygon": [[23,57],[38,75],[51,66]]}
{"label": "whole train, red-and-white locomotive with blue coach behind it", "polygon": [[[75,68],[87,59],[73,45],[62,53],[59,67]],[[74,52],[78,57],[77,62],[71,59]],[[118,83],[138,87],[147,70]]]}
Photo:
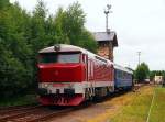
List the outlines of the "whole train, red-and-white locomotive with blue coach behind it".
{"label": "whole train, red-and-white locomotive with blue coach behind it", "polygon": [[41,49],[37,68],[38,101],[44,106],[79,106],[133,86],[131,69],[74,45]]}

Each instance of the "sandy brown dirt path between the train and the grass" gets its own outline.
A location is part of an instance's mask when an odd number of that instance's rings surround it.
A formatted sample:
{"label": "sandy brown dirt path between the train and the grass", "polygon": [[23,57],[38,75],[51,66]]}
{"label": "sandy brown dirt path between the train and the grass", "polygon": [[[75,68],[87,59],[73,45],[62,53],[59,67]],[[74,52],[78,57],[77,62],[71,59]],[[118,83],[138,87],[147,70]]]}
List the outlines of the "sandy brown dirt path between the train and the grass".
{"label": "sandy brown dirt path between the train and the grass", "polygon": [[145,86],[136,92],[128,92],[110,98],[101,103],[76,110],[52,119],[50,122],[109,122],[122,108],[129,104],[139,93],[151,92],[152,87]]}

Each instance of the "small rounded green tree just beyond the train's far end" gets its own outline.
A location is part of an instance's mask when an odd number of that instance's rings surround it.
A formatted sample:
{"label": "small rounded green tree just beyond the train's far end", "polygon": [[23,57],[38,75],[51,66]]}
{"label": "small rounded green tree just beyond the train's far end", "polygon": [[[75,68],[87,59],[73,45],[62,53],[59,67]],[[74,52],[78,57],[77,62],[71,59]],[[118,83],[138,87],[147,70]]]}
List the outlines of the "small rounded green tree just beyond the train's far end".
{"label": "small rounded green tree just beyond the train's far end", "polygon": [[145,79],[148,78],[148,75],[150,75],[150,69],[147,64],[145,63],[140,64],[134,71],[135,79],[139,82],[144,82]]}

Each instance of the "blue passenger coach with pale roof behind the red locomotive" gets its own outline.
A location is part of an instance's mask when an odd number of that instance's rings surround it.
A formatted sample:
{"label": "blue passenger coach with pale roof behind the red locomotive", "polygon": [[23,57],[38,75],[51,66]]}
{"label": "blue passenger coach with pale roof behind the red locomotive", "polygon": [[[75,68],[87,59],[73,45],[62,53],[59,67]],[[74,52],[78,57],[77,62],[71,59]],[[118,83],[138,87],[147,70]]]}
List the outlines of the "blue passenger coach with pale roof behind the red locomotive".
{"label": "blue passenger coach with pale roof behind the red locomotive", "polygon": [[133,71],[114,64],[114,88],[131,89],[133,86]]}

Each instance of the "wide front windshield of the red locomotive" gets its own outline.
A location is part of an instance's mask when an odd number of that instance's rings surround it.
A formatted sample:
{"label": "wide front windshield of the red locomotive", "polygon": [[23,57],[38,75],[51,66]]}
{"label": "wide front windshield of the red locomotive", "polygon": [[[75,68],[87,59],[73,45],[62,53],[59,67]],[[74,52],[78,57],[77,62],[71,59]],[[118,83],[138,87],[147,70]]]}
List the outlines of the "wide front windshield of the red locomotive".
{"label": "wide front windshield of the red locomotive", "polygon": [[48,64],[48,63],[79,63],[80,54],[79,53],[45,53],[41,54],[38,63]]}

